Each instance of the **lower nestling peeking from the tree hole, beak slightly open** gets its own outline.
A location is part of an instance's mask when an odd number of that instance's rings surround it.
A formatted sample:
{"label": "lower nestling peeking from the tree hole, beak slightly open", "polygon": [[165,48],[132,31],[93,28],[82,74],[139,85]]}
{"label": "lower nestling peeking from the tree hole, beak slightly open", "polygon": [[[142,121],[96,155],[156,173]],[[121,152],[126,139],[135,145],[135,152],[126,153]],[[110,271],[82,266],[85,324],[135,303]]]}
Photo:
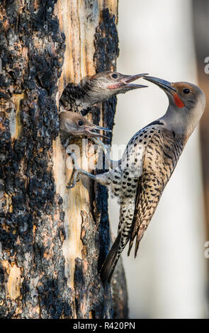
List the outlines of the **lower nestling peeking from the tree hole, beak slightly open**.
{"label": "lower nestling peeking from the tree hole, beak slightly open", "polygon": [[[59,115],[60,119],[60,140],[62,143],[72,136],[86,136],[86,137],[106,137],[94,130],[106,130],[111,132],[108,128],[102,128],[98,125],[92,124],[88,119],[84,118],[76,112],[65,111]],[[107,137],[108,138],[108,137]]]}

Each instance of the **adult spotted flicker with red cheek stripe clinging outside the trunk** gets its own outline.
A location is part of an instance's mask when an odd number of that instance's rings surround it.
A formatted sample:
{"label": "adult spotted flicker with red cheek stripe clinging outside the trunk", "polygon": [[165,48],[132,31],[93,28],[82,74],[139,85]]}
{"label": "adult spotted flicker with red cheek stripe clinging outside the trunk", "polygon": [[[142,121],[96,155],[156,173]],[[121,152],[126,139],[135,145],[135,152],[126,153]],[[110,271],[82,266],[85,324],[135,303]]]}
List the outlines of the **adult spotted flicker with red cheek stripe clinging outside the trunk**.
{"label": "adult spotted flicker with red cheek stripe clinging outside the trunk", "polygon": [[77,170],[110,187],[120,201],[118,236],[101,269],[104,283],[111,280],[125,245],[130,242],[129,255],[135,239],[137,255],[140,240],[162,192],[205,109],[205,95],[198,86],[187,82],[170,83],[155,77],[145,79],[157,84],[168,96],[169,107],[164,116],[139,130],[130,139],[121,167],[97,176]]}

